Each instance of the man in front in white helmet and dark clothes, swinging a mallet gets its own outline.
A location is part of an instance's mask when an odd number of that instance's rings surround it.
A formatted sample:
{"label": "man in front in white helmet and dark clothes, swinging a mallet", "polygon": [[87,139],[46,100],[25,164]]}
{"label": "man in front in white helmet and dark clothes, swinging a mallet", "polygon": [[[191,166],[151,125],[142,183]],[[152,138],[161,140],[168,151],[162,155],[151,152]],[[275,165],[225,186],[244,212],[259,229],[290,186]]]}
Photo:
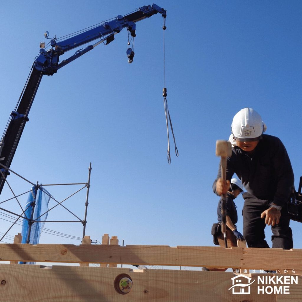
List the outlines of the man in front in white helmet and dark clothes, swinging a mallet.
{"label": "man in front in white helmet and dark clothes, swinging a mallet", "polygon": [[227,158],[226,181],[221,169],[214,181],[217,195],[226,194],[236,173],[247,192],[243,194],[243,236],[248,247],[268,248],[265,225],[271,226],[272,247],[293,248],[287,201],[294,174],[287,151],[278,137],[263,134],[266,126],[251,108],[240,110],[231,125],[234,147]]}

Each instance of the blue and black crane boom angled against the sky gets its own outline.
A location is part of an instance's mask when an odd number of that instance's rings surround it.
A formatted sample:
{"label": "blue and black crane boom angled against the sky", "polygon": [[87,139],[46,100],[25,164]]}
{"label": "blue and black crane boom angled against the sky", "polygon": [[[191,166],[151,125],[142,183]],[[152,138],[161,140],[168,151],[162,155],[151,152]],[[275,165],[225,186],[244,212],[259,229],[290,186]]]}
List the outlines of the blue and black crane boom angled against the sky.
{"label": "blue and black crane boom angled against the sky", "polygon": [[[137,11],[125,16],[118,15],[108,22],[101,23],[101,25],[83,31],[66,40],[57,41],[56,38],[53,38],[50,40],[52,48],[49,50],[44,50],[43,46],[41,46],[40,53],[32,65],[27,82],[14,111],[11,112],[7,127],[0,141],[0,194],[6,177],[9,175],[9,168],[24,126],[28,121],[28,114],[42,76],[52,76],[58,69],[77,59],[79,56],[82,56],[84,53],[87,53],[89,50],[92,50],[100,43],[107,45],[114,40],[114,35],[118,34],[123,28],[127,28],[131,36],[135,37],[135,23],[157,13],[162,14],[163,18],[166,17],[166,10],[156,4],[142,6]],[[48,33],[45,33],[45,37],[48,37]],[[59,61],[59,57],[67,51],[97,39],[98,41],[94,45],[88,45],[87,47],[77,50],[74,55],[62,60],[62,62]],[[134,56],[134,52],[131,48],[127,49],[127,56],[128,62],[131,63]]]}

